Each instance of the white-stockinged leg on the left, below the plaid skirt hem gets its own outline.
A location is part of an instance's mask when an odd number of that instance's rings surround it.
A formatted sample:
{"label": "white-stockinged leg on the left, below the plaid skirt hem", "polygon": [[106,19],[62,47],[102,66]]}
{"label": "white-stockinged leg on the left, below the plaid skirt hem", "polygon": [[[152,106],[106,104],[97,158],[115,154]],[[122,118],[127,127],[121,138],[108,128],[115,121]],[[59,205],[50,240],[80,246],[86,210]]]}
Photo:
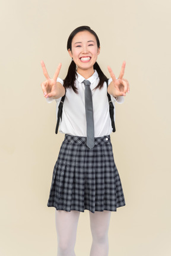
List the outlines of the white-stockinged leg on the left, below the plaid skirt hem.
{"label": "white-stockinged leg on the left, below the plaid skirt hem", "polygon": [[74,247],[80,211],[55,210],[58,256],[75,256]]}

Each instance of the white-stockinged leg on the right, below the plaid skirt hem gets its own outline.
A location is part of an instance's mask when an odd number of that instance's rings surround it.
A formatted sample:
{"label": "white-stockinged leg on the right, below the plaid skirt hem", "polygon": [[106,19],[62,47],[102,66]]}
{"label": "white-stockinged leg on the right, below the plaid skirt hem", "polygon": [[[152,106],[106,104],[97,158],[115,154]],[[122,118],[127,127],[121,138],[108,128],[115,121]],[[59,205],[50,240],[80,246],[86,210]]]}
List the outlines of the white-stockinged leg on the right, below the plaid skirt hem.
{"label": "white-stockinged leg on the right, below the plaid skirt hem", "polygon": [[109,251],[108,230],[111,211],[90,212],[90,226],[93,236],[90,256],[107,256]]}

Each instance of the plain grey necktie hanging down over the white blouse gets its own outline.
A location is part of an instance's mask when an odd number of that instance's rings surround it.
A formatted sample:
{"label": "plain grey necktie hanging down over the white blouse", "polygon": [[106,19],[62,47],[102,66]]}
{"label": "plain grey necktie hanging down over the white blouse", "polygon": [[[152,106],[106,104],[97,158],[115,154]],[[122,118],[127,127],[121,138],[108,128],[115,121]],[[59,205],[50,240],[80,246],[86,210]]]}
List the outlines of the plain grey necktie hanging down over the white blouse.
{"label": "plain grey necktie hanging down over the white blouse", "polygon": [[93,119],[93,102],[90,89],[90,81],[84,80],[85,85],[85,116],[87,121],[87,147],[94,147],[94,119]]}

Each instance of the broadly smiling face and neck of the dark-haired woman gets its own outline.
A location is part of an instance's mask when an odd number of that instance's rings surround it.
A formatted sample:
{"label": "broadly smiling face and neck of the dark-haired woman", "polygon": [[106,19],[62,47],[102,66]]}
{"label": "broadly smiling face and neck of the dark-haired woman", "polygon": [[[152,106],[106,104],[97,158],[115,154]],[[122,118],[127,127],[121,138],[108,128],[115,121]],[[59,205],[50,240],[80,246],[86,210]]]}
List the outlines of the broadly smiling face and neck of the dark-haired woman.
{"label": "broadly smiling face and neck of the dark-haired woman", "polygon": [[93,75],[93,65],[100,53],[100,47],[97,47],[96,37],[93,34],[86,30],[75,34],[68,52],[77,65],[79,74],[84,74],[84,77],[85,74]]}

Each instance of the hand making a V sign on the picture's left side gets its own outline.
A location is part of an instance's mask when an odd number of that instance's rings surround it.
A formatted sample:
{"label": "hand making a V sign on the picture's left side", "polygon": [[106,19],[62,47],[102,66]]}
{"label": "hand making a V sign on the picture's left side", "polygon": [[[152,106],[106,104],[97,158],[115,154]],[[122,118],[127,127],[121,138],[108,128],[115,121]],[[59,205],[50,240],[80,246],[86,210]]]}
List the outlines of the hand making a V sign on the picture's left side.
{"label": "hand making a V sign on the picture's left side", "polygon": [[[53,78],[49,77],[47,73],[47,69],[45,67],[45,63],[43,61],[41,61],[41,65],[43,69],[43,74],[46,77],[46,80],[41,84],[44,97],[45,98],[52,97],[52,99],[58,99],[58,94],[60,94],[60,92],[58,91],[58,86],[56,81],[57,81],[62,64],[60,63],[58,65],[58,68],[56,69],[55,74],[53,75]],[[63,87],[63,90],[64,90],[64,87]]]}

